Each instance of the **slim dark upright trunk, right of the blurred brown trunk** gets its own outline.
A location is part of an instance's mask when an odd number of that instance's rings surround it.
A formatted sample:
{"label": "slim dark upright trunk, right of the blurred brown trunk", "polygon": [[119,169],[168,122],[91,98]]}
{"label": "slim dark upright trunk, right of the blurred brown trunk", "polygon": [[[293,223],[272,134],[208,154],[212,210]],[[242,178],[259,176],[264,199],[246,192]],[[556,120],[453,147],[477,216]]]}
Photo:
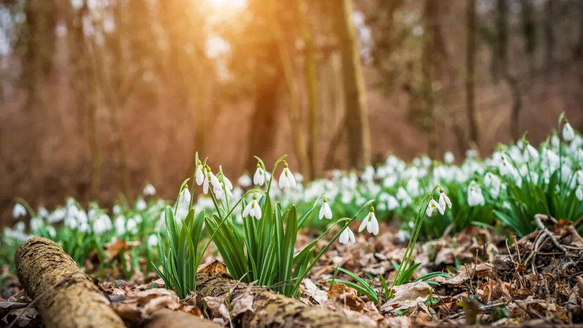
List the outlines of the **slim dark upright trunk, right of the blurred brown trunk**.
{"label": "slim dark upright trunk, right of the blurred brown trunk", "polygon": [[468,1],[468,49],[466,53],[466,107],[470,127],[470,141],[479,149],[479,127],[476,113],[476,0]]}

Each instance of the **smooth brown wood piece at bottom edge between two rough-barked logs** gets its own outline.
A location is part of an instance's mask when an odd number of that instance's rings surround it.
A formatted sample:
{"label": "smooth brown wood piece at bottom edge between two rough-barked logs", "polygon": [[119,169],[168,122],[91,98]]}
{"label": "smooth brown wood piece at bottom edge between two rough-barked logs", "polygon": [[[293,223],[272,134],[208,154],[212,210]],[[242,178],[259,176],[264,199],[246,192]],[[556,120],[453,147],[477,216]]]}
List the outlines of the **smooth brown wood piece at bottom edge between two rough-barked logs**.
{"label": "smooth brown wood piece at bottom edge between two rough-barked logs", "polygon": [[153,313],[152,319],[138,328],[222,328],[218,323],[203,320],[184,312],[161,309]]}

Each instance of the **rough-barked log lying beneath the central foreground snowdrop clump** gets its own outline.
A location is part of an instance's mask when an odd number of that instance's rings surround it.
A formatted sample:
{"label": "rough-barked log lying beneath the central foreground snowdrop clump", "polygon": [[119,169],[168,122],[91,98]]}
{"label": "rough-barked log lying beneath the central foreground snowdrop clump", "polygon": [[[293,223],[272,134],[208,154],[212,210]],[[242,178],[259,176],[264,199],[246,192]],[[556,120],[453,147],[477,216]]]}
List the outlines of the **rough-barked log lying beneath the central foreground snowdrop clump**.
{"label": "rough-barked log lying beneath the central foreground snowdrop clump", "polygon": [[205,297],[226,297],[229,295],[231,308],[238,297],[252,295],[252,311],[245,311],[232,318],[237,327],[374,327],[367,321],[347,318],[341,312],[328,311],[322,306],[309,306],[297,299],[288,298],[264,287],[250,287],[244,283],[222,276],[196,275],[196,302],[203,309]]}

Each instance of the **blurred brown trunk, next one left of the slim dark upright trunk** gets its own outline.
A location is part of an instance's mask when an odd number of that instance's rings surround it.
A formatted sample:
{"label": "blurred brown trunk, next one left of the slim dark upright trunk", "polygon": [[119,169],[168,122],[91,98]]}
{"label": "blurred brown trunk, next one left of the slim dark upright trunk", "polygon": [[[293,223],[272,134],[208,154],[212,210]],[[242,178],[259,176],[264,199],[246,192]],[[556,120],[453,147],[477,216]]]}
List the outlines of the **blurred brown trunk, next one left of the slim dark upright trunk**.
{"label": "blurred brown trunk, next one left of the slim dark upright trunk", "polygon": [[424,20],[425,29],[423,31],[423,54],[422,54],[422,74],[423,74],[423,96],[425,103],[425,127],[427,129],[427,153],[431,158],[438,157],[437,149],[437,129],[435,118],[435,101],[433,94],[433,40],[434,24],[436,22],[436,6],[434,0],[425,0]]}

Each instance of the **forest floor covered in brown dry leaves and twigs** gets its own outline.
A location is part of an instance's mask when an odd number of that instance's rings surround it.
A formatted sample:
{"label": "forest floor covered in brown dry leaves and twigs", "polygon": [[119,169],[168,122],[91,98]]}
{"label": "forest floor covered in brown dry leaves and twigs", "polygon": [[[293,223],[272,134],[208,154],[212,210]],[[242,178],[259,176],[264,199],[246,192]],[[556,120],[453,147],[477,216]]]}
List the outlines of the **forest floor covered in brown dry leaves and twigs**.
{"label": "forest floor covered in brown dry leaves and twigs", "polygon": [[[297,246],[314,238],[311,232],[302,231]],[[317,247],[324,245],[321,241]],[[405,249],[387,225],[381,225],[375,238],[359,236],[356,244],[348,245],[335,242],[304,279],[300,301],[340,312],[363,327],[583,326],[583,238],[574,225],[559,221],[521,239],[507,239],[472,226],[456,237],[419,242],[413,258],[422,265],[413,278],[433,271],[447,271],[452,278],[433,278],[439,285],[420,281],[394,287],[394,297],[385,300],[379,275],[390,286],[396,273],[392,261],[399,262]],[[209,254],[199,273],[228,277],[224,265]],[[91,266],[87,263],[84,269],[90,271]],[[336,266],[370,283],[378,294],[378,304],[345,284],[335,282],[331,287],[327,280],[333,277],[353,281],[342,272],[335,276]],[[131,281],[116,280],[115,274],[94,283],[128,327],[143,327],[149,313],[161,308],[213,319],[224,326],[245,327],[248,323],[241,316],[254,311],[256,294],[229,301],[231,311],[225,312],[221,311],[224,298],[216,302],[207,297],[205,306],[197,306],[201,301],[194,301],[195,297],[178,300],[173,291],[163,288],[156,274],[136,274]],[[37,299],[26,296],[17,277],[3,281],[0,327],[42,327]]]}

